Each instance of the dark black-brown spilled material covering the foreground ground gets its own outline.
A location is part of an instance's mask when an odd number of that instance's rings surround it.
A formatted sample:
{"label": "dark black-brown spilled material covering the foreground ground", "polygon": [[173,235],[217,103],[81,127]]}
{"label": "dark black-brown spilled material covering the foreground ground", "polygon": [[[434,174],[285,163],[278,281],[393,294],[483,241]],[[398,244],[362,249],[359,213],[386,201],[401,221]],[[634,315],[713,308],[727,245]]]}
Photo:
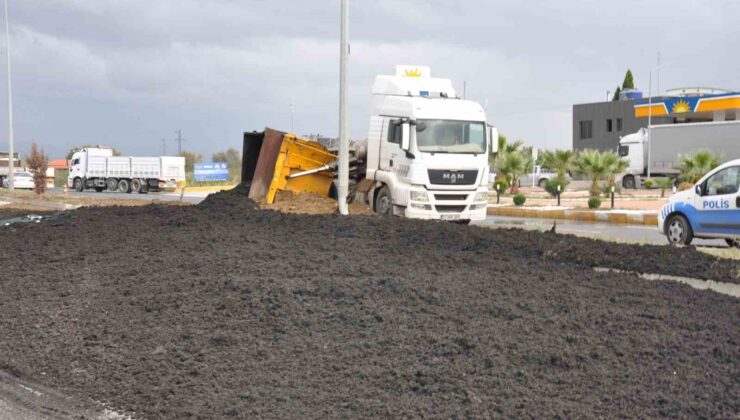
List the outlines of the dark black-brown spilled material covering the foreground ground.
{"label": "dark black-brown spilled material covering the foreground ground", "polygon": [[737,281],[693,249],[240,190],[5,232],[0,369],[138,419],[740,415],[738,299],[593,270]]}

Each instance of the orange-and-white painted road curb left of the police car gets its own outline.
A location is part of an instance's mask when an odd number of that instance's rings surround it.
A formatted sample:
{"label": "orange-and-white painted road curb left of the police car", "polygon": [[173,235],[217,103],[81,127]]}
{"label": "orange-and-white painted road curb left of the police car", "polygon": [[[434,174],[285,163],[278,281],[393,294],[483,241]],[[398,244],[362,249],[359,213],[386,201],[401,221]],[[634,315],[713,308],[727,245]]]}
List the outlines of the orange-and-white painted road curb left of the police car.
{"label": "orange-and-white painted road curb left of the police car", "polygon": [[491,216],[531,217],[537,219],[564,219],[629,225],[658,224],[657,212],[623,210],[575,210],[539,207],[488,207]]}

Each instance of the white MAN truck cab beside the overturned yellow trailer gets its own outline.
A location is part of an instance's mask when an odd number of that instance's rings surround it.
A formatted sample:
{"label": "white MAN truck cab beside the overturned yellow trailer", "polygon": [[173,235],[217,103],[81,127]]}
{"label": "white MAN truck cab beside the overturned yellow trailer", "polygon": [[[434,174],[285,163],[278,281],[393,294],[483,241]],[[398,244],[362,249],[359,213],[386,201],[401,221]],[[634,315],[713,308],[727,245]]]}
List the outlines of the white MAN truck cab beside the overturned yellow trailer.
{"label": "white MAN truck cab beside the overturned yellow trailer", "polygon": [[[398,66],[373,86],[366,178],[381,214],[469,222],[486,217],[488,154],[497,132],[427,67]],[[493,140],[493,142],[491,141]]]}

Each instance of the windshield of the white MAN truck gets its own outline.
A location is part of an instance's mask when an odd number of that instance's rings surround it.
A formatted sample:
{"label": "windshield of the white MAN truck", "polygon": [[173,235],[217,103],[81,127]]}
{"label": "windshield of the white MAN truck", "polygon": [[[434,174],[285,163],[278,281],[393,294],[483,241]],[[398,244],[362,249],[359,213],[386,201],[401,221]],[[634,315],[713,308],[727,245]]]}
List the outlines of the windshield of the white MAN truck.
{"label": "windshield of the white MAN truck", "polygon": [[416,142],[420,152],[466,153],[486,152],[485,124],[474,121],[420,120]]}

